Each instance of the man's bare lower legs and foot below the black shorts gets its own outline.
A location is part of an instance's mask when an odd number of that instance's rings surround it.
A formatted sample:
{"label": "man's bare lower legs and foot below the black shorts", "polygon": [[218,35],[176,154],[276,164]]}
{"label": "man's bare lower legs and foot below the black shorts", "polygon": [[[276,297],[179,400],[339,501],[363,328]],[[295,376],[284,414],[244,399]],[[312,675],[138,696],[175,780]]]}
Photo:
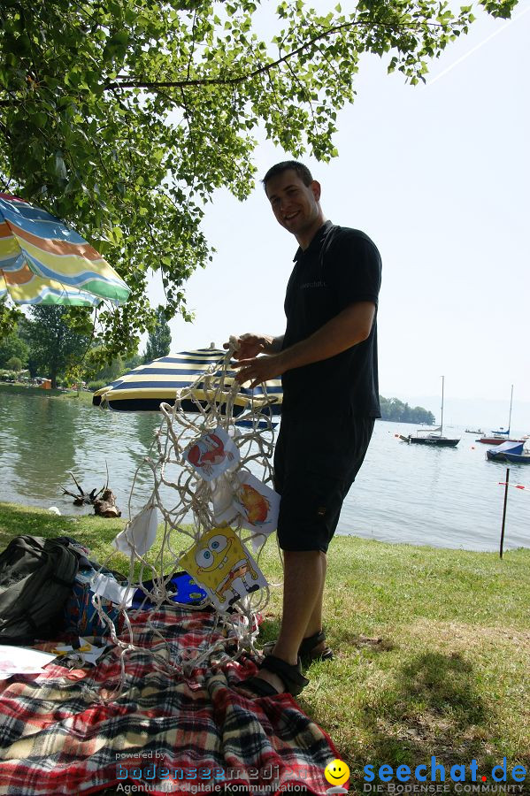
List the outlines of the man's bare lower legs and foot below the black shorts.
{"label": "man's bare lower legs and foot below the black shorts", "polygon": [[[321,622],[326,555],[319,550],[286,550],[283,555],[283,613],[273,654],[282,661],[296,664],[302,639],[322,627],[308,632],[312,621]],[[279,692],[285,690],[283,681],[273,672],[262,669],[257,677],[262,677]]]}

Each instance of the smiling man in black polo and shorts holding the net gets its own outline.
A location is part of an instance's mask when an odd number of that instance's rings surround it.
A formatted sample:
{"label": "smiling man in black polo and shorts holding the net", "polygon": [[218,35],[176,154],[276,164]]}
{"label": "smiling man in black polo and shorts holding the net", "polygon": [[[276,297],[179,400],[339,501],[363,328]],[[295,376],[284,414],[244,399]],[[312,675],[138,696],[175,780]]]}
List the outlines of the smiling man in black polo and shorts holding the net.
{"label": "smiling man in black polo and shorts holding the net", "polygon": [[306,166],[274,165],[263,182],[274,216],[299,244],[285,298],[285,333],[243,334],[235,355],[239,381],[255,386],[281,376],[283,386],[274,452],[283,615],[272,654],[242,684],[250,693],[272,696],[296,695],[307,685],[300,656],[306,662],[333,656],[322,625],[326,551],[380,417],[381,264],[365,233],[326,221],[319,183]]}

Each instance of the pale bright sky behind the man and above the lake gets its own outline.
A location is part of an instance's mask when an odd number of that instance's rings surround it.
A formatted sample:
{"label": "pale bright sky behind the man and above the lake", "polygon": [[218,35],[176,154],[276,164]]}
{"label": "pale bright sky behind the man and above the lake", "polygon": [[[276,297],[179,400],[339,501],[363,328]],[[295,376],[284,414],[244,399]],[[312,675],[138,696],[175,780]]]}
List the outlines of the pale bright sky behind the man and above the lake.
{"label": "pale bright sky behind the man and above the lake", "polygon": [[[511,21],[475,13],[426,85],[364,57],[356,101],[338,114],[339,157],[302,159],[322,185],[326,218],[380,249],[380,394],[439,420],[443,374],[444,423],[506,427],[513,385],[512,428],[530,432],[530,2]],[[290,157],[262,138],[258,178]],[[204,232],[217,252],[188,280],[196,318],[173,319],[172,352],[283,333],[296,240],[261,185],[244,203],[217,191]],[[150,301],[162,296],[154,277]]]}

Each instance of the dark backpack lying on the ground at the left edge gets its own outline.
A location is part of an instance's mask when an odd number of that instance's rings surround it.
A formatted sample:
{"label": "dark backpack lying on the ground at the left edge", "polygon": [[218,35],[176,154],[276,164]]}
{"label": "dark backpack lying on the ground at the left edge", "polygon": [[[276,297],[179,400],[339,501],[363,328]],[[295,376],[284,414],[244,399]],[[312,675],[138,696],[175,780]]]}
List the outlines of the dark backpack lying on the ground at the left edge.
{"label": "dark backpack lying on the ground at the left edge", "polygon": [[78,566],[58,540],[13,539],[0,554],[0,644],[31,644],[60,631]]}

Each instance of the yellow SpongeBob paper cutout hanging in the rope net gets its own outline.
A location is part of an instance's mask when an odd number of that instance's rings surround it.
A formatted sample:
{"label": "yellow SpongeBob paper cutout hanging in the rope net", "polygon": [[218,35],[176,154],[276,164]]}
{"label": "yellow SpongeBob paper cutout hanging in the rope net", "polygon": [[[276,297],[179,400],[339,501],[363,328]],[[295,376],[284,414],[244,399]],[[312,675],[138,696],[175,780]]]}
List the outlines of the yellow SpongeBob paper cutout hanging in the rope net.
{"label": "yellow SpongeBob paper cutout hanging in the rope net", "polygon": [[232,528],[212,528],[181,558],[181,566],[227,610],[267,585],[263,572]]}

